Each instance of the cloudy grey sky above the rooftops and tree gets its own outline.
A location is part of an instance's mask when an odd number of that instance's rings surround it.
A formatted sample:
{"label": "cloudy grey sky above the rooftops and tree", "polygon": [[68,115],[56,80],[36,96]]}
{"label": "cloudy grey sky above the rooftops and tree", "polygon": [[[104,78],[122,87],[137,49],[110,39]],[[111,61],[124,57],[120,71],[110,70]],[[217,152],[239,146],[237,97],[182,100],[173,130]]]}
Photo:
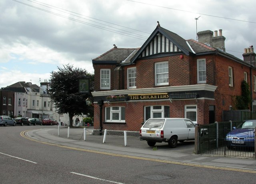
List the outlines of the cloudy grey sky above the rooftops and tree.
{"label": "cloudy grey sky above the rooftops and tree", "polygon": [[222,29],[226,52],[242,59],[256,43],[256,1],[243,0],[1,0],[0,87],[39,84],[57,66],[94,72],[92,59],[142,46],[157,21],[184,39]]}

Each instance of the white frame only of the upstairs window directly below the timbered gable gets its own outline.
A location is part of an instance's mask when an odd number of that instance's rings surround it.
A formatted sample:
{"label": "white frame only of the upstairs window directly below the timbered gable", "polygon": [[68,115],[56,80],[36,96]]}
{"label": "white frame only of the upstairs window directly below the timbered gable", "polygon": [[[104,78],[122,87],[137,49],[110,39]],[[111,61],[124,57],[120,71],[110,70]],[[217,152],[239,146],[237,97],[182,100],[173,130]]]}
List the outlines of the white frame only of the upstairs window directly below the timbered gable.
{"label": "white frame only of the upstairs window directly below the timbered gable", "polygon": [[[160,65],[166,65],[167,64],[167,72],[166,71],[158,71],[158,70],[162,70],[166,67],[162,67],[159,68],[158,66]],[[163,77],[162,75],[166,75],[167,77]],[[160,77],[162,76],[162,78]],[[163,80],[162,82],[158,82],[158,80]],[[166,80],[166,82],[164,82],[164,80]],[[161,86],[161,85],[168,85],[169,84],[169,64],[168,61],[164,61],[164,62],[157,62],[155,63],[155,86]]]}

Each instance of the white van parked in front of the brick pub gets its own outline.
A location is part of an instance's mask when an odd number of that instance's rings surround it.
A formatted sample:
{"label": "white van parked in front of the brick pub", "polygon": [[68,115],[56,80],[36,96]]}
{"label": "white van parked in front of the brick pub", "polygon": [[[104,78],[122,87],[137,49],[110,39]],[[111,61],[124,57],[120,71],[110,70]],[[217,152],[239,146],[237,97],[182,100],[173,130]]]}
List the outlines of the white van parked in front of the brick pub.
{"label": "white van parked in front of the brick pub", "polygon": [[178,141],[195,140],[195,126],[186,118],[150,118],[140,128],[140,140],[146,140],[148,146],[168,142],[170,148],[175,148]]}

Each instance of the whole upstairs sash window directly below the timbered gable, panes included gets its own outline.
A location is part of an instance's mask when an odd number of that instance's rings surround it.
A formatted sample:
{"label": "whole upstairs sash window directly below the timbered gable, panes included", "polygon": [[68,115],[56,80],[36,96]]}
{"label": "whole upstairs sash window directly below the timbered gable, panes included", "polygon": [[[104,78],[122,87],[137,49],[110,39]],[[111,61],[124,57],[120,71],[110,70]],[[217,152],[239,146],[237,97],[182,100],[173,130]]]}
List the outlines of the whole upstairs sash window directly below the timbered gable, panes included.
{"label": "whole upstairs sash window directly below the timbered gable, panes included", "polygon": [[155,63],[155,85],[169,84],[168,61]]}

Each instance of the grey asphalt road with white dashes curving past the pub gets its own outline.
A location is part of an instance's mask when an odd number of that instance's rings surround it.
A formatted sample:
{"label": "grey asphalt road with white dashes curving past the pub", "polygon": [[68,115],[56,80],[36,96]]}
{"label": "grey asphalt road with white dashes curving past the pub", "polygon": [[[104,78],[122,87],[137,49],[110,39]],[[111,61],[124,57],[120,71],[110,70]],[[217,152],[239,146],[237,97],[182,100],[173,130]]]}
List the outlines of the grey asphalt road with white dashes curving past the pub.
{"label": "grey asphalt road with white dashes curving past the pub", "polygon": [[38,142],[21,135],[49,127],[0,127],[1,184],[230,184],[254,183],[256,178],[255,172]]}

